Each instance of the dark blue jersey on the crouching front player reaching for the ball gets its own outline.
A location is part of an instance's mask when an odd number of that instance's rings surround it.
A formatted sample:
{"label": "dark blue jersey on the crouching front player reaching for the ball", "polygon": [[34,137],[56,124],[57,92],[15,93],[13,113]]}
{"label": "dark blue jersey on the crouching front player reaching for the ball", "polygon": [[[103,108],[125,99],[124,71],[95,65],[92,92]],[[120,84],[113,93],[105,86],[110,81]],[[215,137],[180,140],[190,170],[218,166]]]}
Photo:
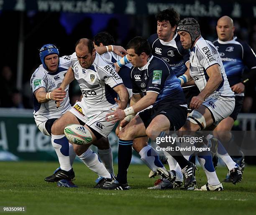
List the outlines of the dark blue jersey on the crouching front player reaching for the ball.
{"label": "dark blue jersey on the crouching front player reaching for the ball", "polygon": [[133,94],[146,95],[147,92],[159,94],[153,106],[163,103],[187,106],[178,78],[162,59],[150,56],[145,66],[132,68],[131,78]]}

